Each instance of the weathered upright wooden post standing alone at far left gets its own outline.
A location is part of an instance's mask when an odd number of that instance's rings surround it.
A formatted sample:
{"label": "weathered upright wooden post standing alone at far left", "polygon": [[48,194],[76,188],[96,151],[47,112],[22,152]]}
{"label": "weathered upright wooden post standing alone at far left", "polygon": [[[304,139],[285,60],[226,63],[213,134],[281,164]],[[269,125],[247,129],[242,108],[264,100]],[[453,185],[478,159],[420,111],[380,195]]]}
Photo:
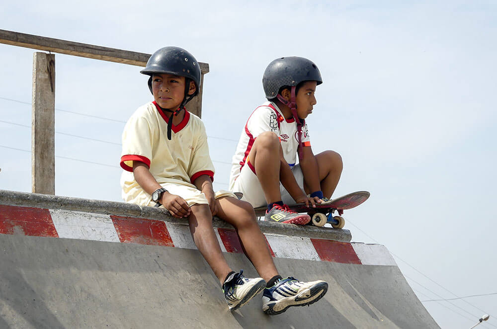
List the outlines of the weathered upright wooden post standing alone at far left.
{"label": "weathered upright wooden post standing alone at far left", "polygon": [[33,55],[32,192],[55,194],[55,55]]}

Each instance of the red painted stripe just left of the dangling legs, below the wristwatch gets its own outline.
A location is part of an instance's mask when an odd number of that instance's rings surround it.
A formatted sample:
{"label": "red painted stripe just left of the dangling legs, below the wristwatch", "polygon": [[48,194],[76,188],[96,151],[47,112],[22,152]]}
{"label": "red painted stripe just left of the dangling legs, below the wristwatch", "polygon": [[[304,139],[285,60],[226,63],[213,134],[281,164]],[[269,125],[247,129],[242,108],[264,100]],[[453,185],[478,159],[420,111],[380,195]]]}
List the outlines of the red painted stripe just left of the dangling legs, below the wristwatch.
{"label": "red painted stripe just left of the dangling legs, below the wristwatch", "polygon": [[111,215],[121,242],[174,247],[163,221]]}

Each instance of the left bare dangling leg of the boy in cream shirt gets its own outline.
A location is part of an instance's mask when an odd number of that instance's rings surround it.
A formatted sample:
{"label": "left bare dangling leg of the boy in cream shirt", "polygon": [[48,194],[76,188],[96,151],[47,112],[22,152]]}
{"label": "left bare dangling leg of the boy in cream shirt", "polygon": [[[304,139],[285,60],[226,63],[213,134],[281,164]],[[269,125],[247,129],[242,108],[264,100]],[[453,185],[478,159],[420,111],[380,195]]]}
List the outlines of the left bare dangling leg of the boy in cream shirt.
{"label": "left bare dangling leg of the boy in cream shirt", "polygon": [[190,233],[193,242],[212,268],[221,285],[231,272],[231,268],[223,256],[221,247],[212,227],[212,215],[209,206],[196,204],[190,207],[191,214],[188,217]]}

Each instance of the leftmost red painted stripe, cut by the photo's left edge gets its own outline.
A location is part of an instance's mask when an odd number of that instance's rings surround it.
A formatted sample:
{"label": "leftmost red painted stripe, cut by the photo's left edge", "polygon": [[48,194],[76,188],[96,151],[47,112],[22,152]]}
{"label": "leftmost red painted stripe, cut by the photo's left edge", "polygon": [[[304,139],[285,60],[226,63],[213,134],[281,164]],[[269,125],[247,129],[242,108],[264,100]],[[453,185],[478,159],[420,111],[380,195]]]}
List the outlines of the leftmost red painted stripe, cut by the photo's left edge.
{"label": "leftmost red painted stripe, cut by the photo's left edge", "polygon": [[58,238],[48,209],[0,205],[0,233]]}

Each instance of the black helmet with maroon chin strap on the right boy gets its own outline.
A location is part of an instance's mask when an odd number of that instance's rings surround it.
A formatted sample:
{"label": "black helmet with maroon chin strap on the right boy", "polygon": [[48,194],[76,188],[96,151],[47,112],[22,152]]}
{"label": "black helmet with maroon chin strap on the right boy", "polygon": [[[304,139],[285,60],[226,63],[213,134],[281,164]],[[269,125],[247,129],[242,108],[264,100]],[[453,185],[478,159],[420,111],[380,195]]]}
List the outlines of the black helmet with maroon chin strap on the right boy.
{"label": "black helmet with maroon chin strap on the right boy", "polygon": [[[267,99],[278,98],[286,106],[290,107],[293,118],[297,122],[299,141],[299,159],[302,159],[302,125],[304,123],[297,115],[297,104],[295,102],[296,87],[300,82],[316,81],[323,83],[321,73],[316,64],[303,57],[281,57],[277,58],[267,66],[262,76],[262,87]],[[281,87],[290,88],[291,98],[286,100],[279,94]]]}

